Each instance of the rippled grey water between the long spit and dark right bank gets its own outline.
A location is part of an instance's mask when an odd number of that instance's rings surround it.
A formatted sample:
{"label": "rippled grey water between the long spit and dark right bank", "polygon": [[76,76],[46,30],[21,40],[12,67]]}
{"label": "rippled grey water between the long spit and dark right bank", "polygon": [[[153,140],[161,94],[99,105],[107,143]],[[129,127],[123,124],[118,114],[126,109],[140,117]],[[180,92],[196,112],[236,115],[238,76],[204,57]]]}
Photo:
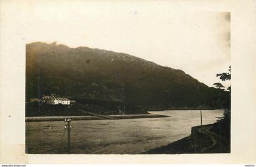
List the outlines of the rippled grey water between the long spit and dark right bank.
{"label": "rippled grey water between the long spit and dark right bank", "polygon": [[[224,110],[203,110],[202,124],[216,122]],[[200,125],[200,110],[150,112],[165,118],[72,121],[72,154],[138,154],[190,135]],[[64,121],[26,123],[30,154],[66,154]]]}

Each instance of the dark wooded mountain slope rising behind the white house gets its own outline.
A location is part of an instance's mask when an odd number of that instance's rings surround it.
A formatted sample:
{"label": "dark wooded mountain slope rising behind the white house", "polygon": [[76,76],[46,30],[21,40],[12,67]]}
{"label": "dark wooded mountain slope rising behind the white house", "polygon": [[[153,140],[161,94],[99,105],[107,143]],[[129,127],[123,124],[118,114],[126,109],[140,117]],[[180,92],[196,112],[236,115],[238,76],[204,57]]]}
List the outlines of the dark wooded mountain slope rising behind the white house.
{"label": "dark wooded mountain slope rising behind the white house", "polygon": [[74,99],[101,110],[222,108],[226,91],[209,88],[180,69],[138,57],[63,44],[26,44],[26,101],[43,94]]}

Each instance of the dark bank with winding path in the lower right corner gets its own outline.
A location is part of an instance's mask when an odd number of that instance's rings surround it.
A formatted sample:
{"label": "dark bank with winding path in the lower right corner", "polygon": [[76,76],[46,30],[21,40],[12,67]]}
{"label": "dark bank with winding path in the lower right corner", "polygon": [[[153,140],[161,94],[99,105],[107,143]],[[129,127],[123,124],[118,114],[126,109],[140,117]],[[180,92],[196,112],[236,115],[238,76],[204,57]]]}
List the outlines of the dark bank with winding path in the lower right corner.
{"label": "dark bank with winding path in the lower right corner", "polygon": [[229,137],[218,133],[223,122],[191,127],[188,137],[157,147],[140,154],[204,154],[204,153],[230,153]]}

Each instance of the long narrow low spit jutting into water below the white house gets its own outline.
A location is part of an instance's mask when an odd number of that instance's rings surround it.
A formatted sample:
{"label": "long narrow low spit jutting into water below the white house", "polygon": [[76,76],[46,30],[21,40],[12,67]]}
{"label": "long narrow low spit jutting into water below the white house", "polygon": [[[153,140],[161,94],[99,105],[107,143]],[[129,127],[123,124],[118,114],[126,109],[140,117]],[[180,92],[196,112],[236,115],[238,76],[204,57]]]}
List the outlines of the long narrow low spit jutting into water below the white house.
{"label": "long narrow low spit jutting into water below the white house", "polygon": [[80,120],[101,120],[101,119],[137,119],[137,118],[163,118],[170,117],[167,115],[156,114],[138,114],[138,115],[105,115],[103,116],[32,116],[26,117],[26,122],[40,121],[64,121],[66,118],[72,118],[73,121]]}

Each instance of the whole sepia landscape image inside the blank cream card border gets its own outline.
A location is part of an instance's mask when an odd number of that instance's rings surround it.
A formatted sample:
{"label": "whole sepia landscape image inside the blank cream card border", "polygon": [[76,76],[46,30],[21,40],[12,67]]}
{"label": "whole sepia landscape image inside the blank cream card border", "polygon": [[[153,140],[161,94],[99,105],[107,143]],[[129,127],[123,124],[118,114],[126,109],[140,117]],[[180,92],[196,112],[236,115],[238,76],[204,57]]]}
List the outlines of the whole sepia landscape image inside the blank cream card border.
{"label": "whole sepia landscape image inside the blank cream card border", "polygon": [[88,5],[30,11],[26,154],[229,154],[230,12]]}

